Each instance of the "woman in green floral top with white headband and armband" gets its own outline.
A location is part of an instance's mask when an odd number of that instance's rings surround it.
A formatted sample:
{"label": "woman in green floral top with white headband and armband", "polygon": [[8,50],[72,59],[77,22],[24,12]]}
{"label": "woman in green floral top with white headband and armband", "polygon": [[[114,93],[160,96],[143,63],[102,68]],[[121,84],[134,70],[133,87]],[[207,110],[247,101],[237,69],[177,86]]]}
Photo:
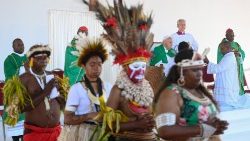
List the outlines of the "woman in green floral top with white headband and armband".
{"label": "woman in green floral top with white headband and armband", "polygon": [[205,63],[192,50],[179,52],[165,83],[154,99],[156,127],[171,141],[220,140],[228,123],[216,117],[218,107],[201,84]]}

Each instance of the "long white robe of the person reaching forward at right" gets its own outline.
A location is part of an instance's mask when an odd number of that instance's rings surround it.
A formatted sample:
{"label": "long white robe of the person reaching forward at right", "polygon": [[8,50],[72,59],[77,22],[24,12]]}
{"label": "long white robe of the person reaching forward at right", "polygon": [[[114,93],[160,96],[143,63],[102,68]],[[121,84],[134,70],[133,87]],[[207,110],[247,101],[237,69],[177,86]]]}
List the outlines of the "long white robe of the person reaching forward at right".
{"label": "long white robe of the person reaching forward at right", "polygon": [[234,53],[225,54],[219,64],[209,62],[207,73],[216,73],[214,96],[218,103],[237,105],[240,98],[240,87]]}

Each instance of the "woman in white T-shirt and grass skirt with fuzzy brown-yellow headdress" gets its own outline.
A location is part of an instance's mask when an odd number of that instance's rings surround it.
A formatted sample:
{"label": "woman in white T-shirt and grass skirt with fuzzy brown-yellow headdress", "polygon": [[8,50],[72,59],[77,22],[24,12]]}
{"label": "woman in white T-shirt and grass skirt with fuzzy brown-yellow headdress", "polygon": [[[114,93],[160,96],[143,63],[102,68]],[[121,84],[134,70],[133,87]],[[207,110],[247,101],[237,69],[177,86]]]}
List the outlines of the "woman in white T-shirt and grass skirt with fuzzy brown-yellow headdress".
{"label": "woman in white T-shirt and grass skirt with fuzzy brown-yellow headdress", "polygon": [[111,90],[111,85],[100,78],[107,57],[107,50],[100,40],[83,46],[78,65],[86,74],[82,81],[70,88],[64,112],[65,125],[59,141],[96,141],[97,134],[91,136],[97,127],[94,117],[100,111],[99,98],[106,101]]}

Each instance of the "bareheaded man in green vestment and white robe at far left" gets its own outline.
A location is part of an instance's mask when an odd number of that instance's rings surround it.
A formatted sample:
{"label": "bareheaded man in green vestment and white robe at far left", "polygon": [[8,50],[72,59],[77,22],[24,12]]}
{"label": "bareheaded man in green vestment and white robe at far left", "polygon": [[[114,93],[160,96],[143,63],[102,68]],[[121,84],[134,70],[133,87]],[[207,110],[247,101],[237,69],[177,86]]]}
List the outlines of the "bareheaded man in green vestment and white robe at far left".
{"label": "bareheaded man in green vestment and white robe at far left", "polygon": [[[25,72],[24,64],[27,62],[26,55],[21,56],[24,52],[24,44],[23,41],[19,38],[16,38],[12,47],[14,52],[8,55],[8,57],[4,61],[4,75],[5,82],[11,79],[13,76],[19,76]],[[5,120],[7,113],[4,112],[3,119]],[[24,122],[24,114],[21,114],[18,123],[16,126],[11,127],[6,125],[6,134],[7,136],[12,136],[13,141],[19,141],[22,139],[23,135],[23,122]]]}

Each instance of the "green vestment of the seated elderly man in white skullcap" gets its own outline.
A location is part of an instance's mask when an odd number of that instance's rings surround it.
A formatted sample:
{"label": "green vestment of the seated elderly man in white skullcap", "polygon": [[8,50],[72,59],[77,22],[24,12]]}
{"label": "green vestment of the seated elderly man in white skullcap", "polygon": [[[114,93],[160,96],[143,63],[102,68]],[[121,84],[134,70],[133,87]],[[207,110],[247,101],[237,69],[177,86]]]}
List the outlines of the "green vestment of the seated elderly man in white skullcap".
{"label": "green vestment of the seated elderly man in white skullcap", "polygon": [[174,57],[175,54],[176,53],[175,53],[174,49],[171,48],[170,50],[166,51],[163,44],[161,44],[161,45],[154,48],[153,56],[150,60],[150,66],[155,66],[155,64],[157,64],[160,61],[164,64],[167,64],[168,63],[168,56]]}

